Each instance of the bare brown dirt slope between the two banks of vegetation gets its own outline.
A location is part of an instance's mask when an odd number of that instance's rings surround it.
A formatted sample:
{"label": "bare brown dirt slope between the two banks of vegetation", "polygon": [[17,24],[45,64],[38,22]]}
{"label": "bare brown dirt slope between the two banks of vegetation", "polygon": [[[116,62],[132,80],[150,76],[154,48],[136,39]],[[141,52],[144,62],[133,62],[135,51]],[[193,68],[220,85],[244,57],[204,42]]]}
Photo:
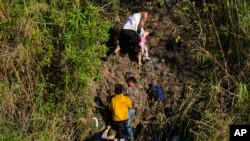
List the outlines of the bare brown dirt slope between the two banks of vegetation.
{"label": "bare brown dirt slope between the two banks of vegetation", "polygon": [[[149,12],[146,29],[152,31],[152,35],[148,37],[148,43],[149,57],[153,62],[145,62],[142,67],[139,67],[136,62],[129,59],[128,55],[110,55],[103,62],[101,71],[104,80],[96,90],[103,106],[108,104],[108,97],[114,94],[115,84],[127,86],[125,78],[129,75],[138,80],[140,93],[145,99],[147,99],[146,90],[151,81],[160,84],[166,96],[165,101],[156,102],[153,105],[148,105],[146,100],[142,110],[137,112],[135,127],[139,128],[139,125],[143,128],[149,127],[152,120],[161,124],[180,110],[186,88],[194,81],[192,78],[194,72],[191,62],[188,61],[185,45],[176,42],[177,36],[182,34],[179,27],[168,16],[166,9]],[[161,61],[163,63],[159,63]],[[155,64],[158,64],[158,68]],[[137,129],[136,132],[139,136],[138,140],[144,140],[142,128]]]}

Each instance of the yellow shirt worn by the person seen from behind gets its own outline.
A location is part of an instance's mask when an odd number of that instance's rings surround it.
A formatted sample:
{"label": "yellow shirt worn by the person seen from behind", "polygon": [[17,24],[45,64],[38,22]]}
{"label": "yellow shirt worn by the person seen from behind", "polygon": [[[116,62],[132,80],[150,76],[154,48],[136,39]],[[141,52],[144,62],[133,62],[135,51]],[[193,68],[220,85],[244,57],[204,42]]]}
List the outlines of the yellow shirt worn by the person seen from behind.
{"label": "yellow shirt worn by the person seen from behind", "polygon": [[128,120],[128,110],[132,108],[132,102],[123,94],[117,94],[111,99],[109,109],[112,111],[114,121]]}

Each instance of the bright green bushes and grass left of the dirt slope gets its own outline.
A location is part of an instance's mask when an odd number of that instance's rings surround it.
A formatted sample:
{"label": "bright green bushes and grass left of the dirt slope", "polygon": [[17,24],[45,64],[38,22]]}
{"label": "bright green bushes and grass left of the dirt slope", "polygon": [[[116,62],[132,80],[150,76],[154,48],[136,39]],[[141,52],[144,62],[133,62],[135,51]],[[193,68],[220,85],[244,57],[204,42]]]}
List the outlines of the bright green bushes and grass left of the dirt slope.
{"label": "bright green bushes and grass left of the dirt slope", "polygon": [[1,0],[0,19],[0,140],[83,140],[110,22],[61,0]]}

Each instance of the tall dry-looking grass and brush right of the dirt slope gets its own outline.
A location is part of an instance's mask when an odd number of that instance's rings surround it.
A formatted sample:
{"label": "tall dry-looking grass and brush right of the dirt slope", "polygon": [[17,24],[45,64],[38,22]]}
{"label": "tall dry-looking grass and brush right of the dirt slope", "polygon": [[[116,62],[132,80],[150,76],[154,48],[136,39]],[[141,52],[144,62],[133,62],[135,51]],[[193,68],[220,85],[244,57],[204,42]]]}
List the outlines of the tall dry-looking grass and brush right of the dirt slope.
{"label": "tall dry-looking grass and brush right of the dirt slope", "polygon": [[228,140],[230,124],[250,123],[249,10],[247,1],[223,0],[174,11],[192,26],[188,46],[202,78],[190,86],[183,113],[194,140]]}

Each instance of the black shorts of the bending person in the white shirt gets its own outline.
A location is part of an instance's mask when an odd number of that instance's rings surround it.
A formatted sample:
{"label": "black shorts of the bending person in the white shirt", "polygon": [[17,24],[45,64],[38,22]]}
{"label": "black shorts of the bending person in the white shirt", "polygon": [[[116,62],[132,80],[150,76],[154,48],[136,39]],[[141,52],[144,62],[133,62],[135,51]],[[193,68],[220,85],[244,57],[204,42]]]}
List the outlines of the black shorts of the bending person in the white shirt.
{"label": "black shorts of the bending person in the white shirt", "polygon": [[122,29],[120,32],[119,45],[122,53],[135,53],[140,50],[139,36],[134,30]]}

